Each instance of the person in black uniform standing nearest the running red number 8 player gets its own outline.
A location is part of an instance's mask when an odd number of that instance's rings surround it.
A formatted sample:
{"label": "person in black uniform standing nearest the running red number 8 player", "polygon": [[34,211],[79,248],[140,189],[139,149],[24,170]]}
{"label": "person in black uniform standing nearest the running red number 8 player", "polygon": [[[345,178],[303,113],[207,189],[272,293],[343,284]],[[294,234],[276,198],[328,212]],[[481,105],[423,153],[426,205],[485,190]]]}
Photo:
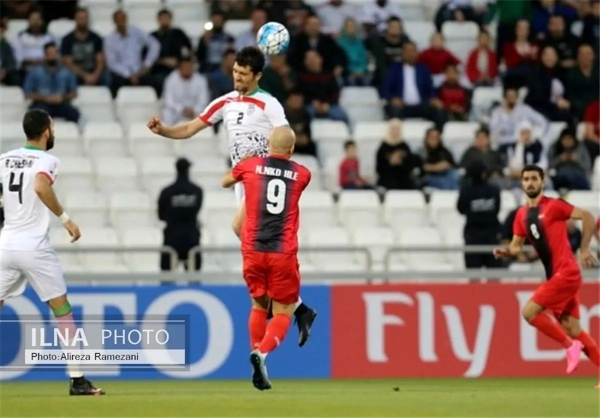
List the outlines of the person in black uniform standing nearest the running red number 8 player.
{"label": "person in black uniform standing nearest the running red number 8 player", "polygon": [[[485,164],[475,161],[467,168],[467,182],[458,195],[458,211],[467,217],[464,225],[466,245],[496,245],[499,242],[500,189],[488,182]],[[502,262],[490,252],[465,253],[467,268],[499,268]]]}

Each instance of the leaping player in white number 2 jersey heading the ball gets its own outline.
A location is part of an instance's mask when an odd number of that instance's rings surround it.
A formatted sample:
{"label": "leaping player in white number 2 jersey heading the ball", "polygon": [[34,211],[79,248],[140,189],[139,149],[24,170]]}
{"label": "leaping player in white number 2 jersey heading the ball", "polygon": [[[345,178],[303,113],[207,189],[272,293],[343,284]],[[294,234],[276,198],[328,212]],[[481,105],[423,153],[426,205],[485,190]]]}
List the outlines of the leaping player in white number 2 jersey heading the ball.
{"label": "leaping player in white number 2 jersey heading the ball", "polygon": [[[198,118],[178,126],[163,126],[160,118],[152,117],[148,128],[157,135],[170,139],[187,139],[203,129],[223,121],[229,138],[232,165],[251,156],[267,156],[267,139],[275,127],[289,128],[281,104],[268,92],[259,88],[265,67],[265,55],[257,47],[245,47],[236,53],[233,64],[234,91],[213,100]],[[292,133],[293,135],[293,133]],[[233,231],[240,234],[245,219],[244,186],[236,184],[239,209],[233,220]],[[310,336],[316,311],[298,300],[294,312],[302,347]]]}

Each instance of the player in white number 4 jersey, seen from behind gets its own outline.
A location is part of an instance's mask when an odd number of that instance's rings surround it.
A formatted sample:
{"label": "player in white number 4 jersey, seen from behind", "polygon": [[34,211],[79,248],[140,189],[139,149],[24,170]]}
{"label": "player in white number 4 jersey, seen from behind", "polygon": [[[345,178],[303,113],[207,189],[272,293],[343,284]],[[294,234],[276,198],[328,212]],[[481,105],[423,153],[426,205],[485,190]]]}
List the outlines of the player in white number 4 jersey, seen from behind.
{"label": "player in white number 4 jersey, seen from behind", "polygon": [[[65,213],[52,184],[58,174],[54,123],[46,112],[34,109],[23,117],[27,145],[0,155],[0,181],[4,196],[4,228],[0,231],[0,309],[4,300],[25,291],[27,282],[52,309],[62,335],[73,338],[76,325],[67,299],[61,265],[48,231],[50,212],[62,221],[71,242],[79,240],[79,227]],[[70,347],[73,349],[73,347]],[[70,395],[104,395],[83,377],[79,365],[68,363]]]}

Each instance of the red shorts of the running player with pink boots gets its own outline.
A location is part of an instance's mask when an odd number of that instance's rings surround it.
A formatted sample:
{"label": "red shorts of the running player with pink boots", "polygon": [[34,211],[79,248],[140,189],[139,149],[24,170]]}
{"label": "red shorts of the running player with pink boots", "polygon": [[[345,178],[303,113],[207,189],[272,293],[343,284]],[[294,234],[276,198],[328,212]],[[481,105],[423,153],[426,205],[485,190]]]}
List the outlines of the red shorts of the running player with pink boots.
{"label": "red shorts of the running player with pink boots", "polygon": [[581,280],[580,271],[559,271],[536,289],[531,300],[551,310],[557,319],[563,315],[579,318]]}

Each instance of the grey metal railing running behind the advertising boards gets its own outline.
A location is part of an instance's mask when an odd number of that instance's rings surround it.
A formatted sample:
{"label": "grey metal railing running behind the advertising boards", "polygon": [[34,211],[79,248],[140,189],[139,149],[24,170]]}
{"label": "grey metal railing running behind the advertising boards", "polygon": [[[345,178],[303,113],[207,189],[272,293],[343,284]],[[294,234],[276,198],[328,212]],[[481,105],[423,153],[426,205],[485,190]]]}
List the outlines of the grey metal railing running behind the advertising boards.
{"label": "grey metal railing running behind the advertising boards", "polygon": [[[465,253],[481,253],[491,252],[494,246],[394,246],[389,247],[385,255],[383,271],[373,271],[373,256],[367,247],[303,247],[300,252],[351,252],[361,253],[365,256],[365,270],[356,271],[306,271],[302,273],[304,282],[390,282],[395,280],[436,280],[456,282],[457,280],[466,280],[469,277],[477,277],[478,279],[534,279],[542,280],[545,277],[544,270],[541,268],[533,268],[532,270],[519,271],[508,270],[508,268],[490,268],[490,269],[452,269],[448,271],[439,270],[391,270],[389,259],[394,253],[401,252],[465,252]],[[526,250],[530,247],[525,247]],[[85,247],[79,248],[76,246],[59,246],[56,247],[58,252],[65,253],[80,253],[80,252],[167,252],[170,254],[173,263],[177,263],[178,256],[172,247]],[[239,252],[239,247],[194,247],[190,251],[190,258],[193,260],[194,254],[201,251],[202,253],[222,253],[222,252]],[[106,280],[115,280],[116,275],[107,273],[74,273],[68,274],[68,280],[76,282],[102,282]],[[598,269],[584,270],[583,277],[585,280],[598,281]],[[127,282],[174,282],[187,283],[190,281],[201,281],[205,283],[239,283],[240,273],[233,271],[220,272],[203,272],[203,271],[187,271],[187,272],[163,272],[163,273],[128,273],[127,277],[122,277],[119,274],[119,280]]]}

